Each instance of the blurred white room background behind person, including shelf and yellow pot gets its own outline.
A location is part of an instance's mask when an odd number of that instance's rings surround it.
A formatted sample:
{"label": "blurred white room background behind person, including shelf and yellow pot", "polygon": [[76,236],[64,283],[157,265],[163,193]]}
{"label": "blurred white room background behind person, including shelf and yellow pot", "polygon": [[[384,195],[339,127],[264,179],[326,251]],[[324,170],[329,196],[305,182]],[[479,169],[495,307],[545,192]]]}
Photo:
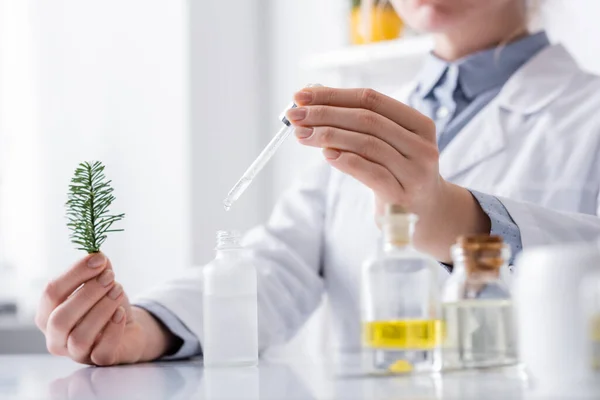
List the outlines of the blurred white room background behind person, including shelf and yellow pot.
{"label": "blurred white room background behind person, including shelf and yellow pot", "polygon": [[[600,73],[597,1],[542,0],[538,16]],[[216,230],[264,221],[319,157],[289,140],[223,210],[294,91],[393,95],[430,45],[392,7],[356,0],[0,0],[0,353],[44,351],[38,297],[83,256],[64,217],[79,162],[103,161],[113,180],[125,231],[103,249],[135,297],[209,261]],[[318,348],[324,315],[292,345]]]}

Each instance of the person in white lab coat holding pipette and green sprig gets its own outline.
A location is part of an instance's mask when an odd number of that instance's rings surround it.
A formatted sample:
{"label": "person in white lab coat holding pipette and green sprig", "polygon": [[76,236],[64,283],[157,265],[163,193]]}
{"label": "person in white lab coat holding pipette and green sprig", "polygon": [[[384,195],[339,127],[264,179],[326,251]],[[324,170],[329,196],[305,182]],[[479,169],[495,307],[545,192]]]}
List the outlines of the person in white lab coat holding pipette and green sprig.
{"label": "person in white lab coat holding pipette and green sprig", "polygon": [[[377,247],[382,201],[419,214],[427,229],[417,228],[417,244],[440,261],[444,240],[465,224],[464,233],[501,234],[513,253],[600,235],[600,79],[543,32],[490,42],[524,24],[521,1],[446,0],[433,14],[432,2],[402,2],[413,3],[439,46],[408,90],[396,99],[363,89],[296,95],[288,118],[298,141],[324,148],[326,159],[245,237],[258,268],[261,349],[293,336],[325,293],[334,344],[360,346],[360,266]],[[489,40],[473,47],[475,39]],[[467,51],[457,54],[460,46]],[[454,198],[468,212],[446,208]],[[100,365],[201,354],[201,268],[132,308],[111,271],[95,255],[48,285],[36,322],[53,354]],[[126,325],[118,314],[127,309]]]}

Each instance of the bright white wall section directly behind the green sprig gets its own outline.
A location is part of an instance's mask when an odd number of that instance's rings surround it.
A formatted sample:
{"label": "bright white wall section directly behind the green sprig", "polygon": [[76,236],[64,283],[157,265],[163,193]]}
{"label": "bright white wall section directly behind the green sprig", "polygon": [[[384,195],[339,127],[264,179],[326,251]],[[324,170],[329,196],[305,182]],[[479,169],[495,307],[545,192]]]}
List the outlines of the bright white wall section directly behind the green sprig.
{"label": "bright white wall section directly behind the green sprig", "polygon": [[5,56],[20,59],[4,82],[16,76],[27,94],[2,88],[13,116],[2,171],[10,261],[37,300],[48,276],[82,256],[64,202],[77,163],[102,160],[113,210],[127,214],[103,250],[135,295],[190,263],[187,3],[3,1],[16,11],[3,16],[3,43],[18,43]]}

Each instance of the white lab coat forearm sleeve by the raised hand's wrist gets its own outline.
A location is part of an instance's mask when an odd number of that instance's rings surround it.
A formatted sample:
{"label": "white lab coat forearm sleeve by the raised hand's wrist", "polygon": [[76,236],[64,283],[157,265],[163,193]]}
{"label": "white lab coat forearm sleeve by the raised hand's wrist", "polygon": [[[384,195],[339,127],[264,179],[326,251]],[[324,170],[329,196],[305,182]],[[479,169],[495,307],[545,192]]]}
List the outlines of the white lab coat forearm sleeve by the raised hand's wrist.
{"label": "white lab coat forearm sleeve by the raised hand's wrist", "polygon": [[600,199],[596,215],[551,210],[533,203],[498,198],[519,226],[523,248],[600,237]]}

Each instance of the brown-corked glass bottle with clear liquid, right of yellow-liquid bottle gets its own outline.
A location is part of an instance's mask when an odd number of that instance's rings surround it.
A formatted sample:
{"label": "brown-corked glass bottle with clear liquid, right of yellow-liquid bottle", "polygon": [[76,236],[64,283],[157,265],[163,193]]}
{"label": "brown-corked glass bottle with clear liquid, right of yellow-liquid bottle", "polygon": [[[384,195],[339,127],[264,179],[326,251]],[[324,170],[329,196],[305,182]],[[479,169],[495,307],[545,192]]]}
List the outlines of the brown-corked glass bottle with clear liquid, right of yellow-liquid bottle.
{"label": "brown-corked glass bottle with clear liquid, right of yellow-liquid bottle", "polygon": [[510,247],[499,236],[461,237],[442,291],[444,370],[518,362],[517,332],[508,285],[500,276]]}

